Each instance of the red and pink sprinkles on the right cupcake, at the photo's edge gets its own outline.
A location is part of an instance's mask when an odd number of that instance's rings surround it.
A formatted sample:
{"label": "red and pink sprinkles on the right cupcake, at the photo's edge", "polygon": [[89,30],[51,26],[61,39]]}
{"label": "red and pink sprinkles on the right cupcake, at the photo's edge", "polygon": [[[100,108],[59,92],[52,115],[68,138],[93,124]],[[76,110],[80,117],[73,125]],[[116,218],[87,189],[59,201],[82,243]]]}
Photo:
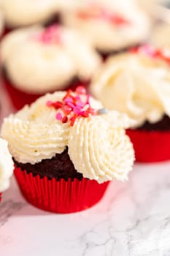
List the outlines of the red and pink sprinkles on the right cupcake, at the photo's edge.
{"label": "red and pink sprinkles on the right cupcake, at the photo's edge", "polygon": [[150,45],[142,45],[141,47],[132,48],[131,53],[142,53],[151,58],[160,58],[170,64],[170,50],[167,48],[159,49]]}

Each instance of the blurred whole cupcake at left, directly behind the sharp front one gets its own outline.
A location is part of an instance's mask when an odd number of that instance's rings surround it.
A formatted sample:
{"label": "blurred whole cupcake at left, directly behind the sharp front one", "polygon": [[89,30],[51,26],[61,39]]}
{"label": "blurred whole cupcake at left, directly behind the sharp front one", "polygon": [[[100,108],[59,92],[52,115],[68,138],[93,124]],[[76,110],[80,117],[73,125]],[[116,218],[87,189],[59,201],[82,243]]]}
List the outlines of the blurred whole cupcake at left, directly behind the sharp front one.
{"label": "blurred whole cupcake at left, directly behind the sharp front one", "polygon": [[88,42],[63,26],[18,29],[1,42],[2,80],[16,109],[47,92],[88,85],[100,64]]}

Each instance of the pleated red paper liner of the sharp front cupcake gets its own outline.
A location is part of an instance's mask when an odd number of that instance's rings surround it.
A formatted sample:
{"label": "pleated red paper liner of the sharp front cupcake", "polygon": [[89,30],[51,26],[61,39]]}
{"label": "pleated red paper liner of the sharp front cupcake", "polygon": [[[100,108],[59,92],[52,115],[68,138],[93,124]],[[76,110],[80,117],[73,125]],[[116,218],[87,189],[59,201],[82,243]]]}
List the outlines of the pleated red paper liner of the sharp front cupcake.
{"label": "pleated red paper liner of the sharp front cupcake", "polygon": [[14,172],[28,203],[60,214],[82,211],[95,205],[101,200],[109,184],[109,181],[98,184],[87,178],[82,178],[82,181],[76,178],[74,181],[65,181],[63,178],[60,181],[55,178],[48,180],[47,177],[40,178],[26,170],[22,171],[20,167],[15,167]]}

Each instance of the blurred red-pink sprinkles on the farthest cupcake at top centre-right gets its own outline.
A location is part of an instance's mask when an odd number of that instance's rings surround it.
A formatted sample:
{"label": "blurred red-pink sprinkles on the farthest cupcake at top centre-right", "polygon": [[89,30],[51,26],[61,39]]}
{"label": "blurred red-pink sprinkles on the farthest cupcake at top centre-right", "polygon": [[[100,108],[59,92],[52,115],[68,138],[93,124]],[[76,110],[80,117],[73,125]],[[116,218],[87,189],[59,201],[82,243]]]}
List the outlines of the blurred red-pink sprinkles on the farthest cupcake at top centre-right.
{"label": "blurred red-pink sprinkles on the farthest cupcake at top centre-right", "polygon": [[109,10],[104,10],[101,7],[93,7],[89,10],[81,10],[77,12],[77,17],[81,19],[98,19],[98,20],[107,20],[109,23],[120,25],[129,24],[129,20],[126,20],[121,15],[117,13],[112,13]]}

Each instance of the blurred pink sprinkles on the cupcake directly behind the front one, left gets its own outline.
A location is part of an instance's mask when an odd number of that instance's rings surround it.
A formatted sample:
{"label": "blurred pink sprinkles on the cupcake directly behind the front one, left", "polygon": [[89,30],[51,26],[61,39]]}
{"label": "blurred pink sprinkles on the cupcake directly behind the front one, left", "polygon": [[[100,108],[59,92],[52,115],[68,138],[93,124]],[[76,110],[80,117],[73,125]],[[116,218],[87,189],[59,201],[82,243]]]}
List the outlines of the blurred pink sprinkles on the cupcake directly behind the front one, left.
{"label": "blurred pink sprinkles on the cupcake directly behind the front one, left", "polygon": [[45,44],[50,44],[50,43],[61,44],[62,42],[61,29],[58,25],[53,24],[52,26],[49,26],[47,27],[47,29],[42,31],[42,33],[37,34],[36,37],[34,38]]}

